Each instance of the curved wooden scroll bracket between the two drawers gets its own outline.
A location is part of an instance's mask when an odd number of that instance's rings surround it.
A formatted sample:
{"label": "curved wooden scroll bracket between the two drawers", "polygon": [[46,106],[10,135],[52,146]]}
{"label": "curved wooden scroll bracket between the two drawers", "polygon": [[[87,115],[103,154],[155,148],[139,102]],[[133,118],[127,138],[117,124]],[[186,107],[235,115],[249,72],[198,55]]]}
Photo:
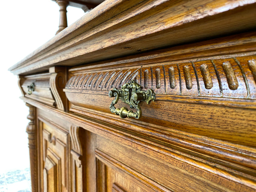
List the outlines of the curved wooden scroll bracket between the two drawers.
{"label": "curved wooden scroll bracket between the two drawers", "polygon": [[50,76],[50,88],[56,101],[56,107],[60,110],[67,110],[67,99],[63,88],[66,85],[66,67],[51,67],[49,69]]}

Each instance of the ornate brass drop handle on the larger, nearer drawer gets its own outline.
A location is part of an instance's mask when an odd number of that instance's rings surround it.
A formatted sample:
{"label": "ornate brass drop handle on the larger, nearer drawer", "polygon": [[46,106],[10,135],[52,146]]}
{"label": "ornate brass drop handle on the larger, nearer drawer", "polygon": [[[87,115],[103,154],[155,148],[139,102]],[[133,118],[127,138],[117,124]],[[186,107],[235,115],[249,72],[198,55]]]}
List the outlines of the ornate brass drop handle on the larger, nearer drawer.
{"label": "ornate brass drop handle on the larger, nearer drawer", "polygon": [[[141,86],[134,80],[124,84],[121,89],[114,88],[113,90],[110,90],[108,96],[115,97],[109,106],[112,113],[119,115],[121,118],[134,117],[136,119],[142,116],[141,108],[138,105],[139,102],[145,101],[147,104],[150,104],[151,101],[156,99],[156,94],[152,89],[143,91],[141,90]],[[119,98],[121,98],[124,103],[130,105],[130,108],[134,108],[137,111],[133,112],[126,107],[122,107],[121,109],[116,108],[114,105],[118,102]]]}

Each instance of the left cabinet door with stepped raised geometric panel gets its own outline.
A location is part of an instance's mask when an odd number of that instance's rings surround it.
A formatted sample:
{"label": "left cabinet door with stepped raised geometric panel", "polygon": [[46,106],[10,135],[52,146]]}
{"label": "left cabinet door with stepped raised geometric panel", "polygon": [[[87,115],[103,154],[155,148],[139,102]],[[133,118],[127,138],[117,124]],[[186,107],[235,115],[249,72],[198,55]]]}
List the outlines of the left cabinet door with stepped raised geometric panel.
{"label": "left cabinet door with stepped raised geometric panel", "polygon": [[[41,117],[40,120],[43,120],[43,118]],[[56,192],[70,191],[69,134],[65,130],[55,127],[51,124],[49,125],[45,122],[47,122],[47,120],[44,120],[44,123],[42,124],[44,181],[47,182],[46,184],[43,184],[44,191],[51,191],[50,189],[46,190],[45,187],[49,186],[50,188],[52,188],[52,185],[54,185],[54,189],[56,190]],[[47,169],[48,166],[52,170],[49,176]],[[48,185],[49,178],[55,179],[54,184],[50,182],[50,184]]]}

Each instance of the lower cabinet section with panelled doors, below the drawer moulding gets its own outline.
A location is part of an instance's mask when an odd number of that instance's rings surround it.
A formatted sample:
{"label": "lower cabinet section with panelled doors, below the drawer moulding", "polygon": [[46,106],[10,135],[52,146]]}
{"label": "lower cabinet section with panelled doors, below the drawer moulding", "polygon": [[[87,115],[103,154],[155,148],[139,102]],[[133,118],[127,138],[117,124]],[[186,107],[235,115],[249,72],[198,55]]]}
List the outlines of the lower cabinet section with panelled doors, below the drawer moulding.
{"label": "lower cabinet section with panelled doors, below the drawer moulding", "polygon": [[[252,192],[255,170],[37,110],[38,192]],[[154,142],[153,142],[154,141]],[[38,186],[37,186],[38,185]]]}

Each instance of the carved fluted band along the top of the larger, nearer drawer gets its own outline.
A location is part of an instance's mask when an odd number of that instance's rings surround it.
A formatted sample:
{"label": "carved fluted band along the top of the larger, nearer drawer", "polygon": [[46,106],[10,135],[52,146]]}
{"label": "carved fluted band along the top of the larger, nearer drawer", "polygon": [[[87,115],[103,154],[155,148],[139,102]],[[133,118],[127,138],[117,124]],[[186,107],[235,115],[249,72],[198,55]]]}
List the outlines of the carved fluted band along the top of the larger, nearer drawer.
{"label": "carved fluted band along the top of the larger, nearer drawer", "polygon": [[66,89],[105,91],[135,80],[156,94],[256,99],[255,60],[256,56],[244,56],[76,74]]}

